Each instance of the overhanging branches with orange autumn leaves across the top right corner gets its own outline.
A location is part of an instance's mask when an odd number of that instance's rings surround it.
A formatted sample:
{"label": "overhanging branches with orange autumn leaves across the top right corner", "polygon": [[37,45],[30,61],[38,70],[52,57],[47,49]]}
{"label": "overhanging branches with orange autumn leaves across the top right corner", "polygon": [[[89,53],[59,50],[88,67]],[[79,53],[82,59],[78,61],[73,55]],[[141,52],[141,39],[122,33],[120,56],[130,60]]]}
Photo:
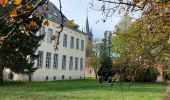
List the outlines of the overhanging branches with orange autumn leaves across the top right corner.
{"label": "overhanging branches with orange autumn leaves across the top right corner", "polygon": [[[95,3],[100,2],[101,7],[96,8]],[[99,11],[107,17],[113,16],[114,13],[125,13],[140,11],[143,14],[148,14],[152,11],[156,12],[159,16],[169,16],[170,13],[170,1],[169,0],[97,0],[92,1],[91,8],[100,9]]]}

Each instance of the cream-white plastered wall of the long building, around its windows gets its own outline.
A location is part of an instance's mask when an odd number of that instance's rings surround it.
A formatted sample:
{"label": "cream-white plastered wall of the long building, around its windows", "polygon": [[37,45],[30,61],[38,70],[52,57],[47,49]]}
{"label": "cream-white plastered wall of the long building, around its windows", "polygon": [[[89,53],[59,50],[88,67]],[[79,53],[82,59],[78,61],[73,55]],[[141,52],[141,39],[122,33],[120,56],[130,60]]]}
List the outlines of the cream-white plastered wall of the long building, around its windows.
{"label": "cream-white plastered wall of the long building, around its windows", "polygon": [[[59,24],[54,23],[52,21],[49,21],[49,26],[45,27],[46,35],[44,37],[44,41],[41,43],[41,46],[38,48],[36,54],[38,54],[38,51],[43,51],[43,66],[42,68],[39,68],[36,72],[32,75],[33,81],[45,81],[46,76],[48,76],[48,80],[53,80],[53,77],[56,76],[56,80],[61,80],[62,75],[65,76],[65,79],[69,79],[71,76],[71,79],[80,79],[80,77],[84,77],[84,69],[85,69],[85,52],[86,52],[86,35],[77,32],[73,29],[64,27],[63,31],[60,35],[60,44],[58,46],[58,50],[54,50],[54,41],[52,41],[52,44],[47,43],[47,34],[48,34],[48,28],[53,30],[53,33],[55,33],[56,30],[59,30],[57,27]],[[67,34],[67,47],[63,47],[63,35]],[[71,36],[74,37],[74,49],[70,49],[70,39]],[[79,38],[79,50],[76,50],[76,38]],[[84,51],[81,51],[81,40],[84,40]],[[51,53],[51,66],[50,68],[46,68],[46,53]],[[58,54],[58,69],[53,68],[53,57],[54,53]],[[62,56],[66,55],[66,69],[62,70]],[[69,70],[69,59],[70,56],[73,56],[73,70]],[[75,70],[75,57],[79,58],[78,61],[78,70]],[[80,71],[80,58],[83,58],[83,71]],[[35,61],[34,64],[35,67],[37,67],[37,61]],[[4,71],[6,73],[6,71]],[[5,74],[7,78],[7,74]],[[21,75],[14,75],[15,80],[28,80],[28,76],[21,76]]]}

